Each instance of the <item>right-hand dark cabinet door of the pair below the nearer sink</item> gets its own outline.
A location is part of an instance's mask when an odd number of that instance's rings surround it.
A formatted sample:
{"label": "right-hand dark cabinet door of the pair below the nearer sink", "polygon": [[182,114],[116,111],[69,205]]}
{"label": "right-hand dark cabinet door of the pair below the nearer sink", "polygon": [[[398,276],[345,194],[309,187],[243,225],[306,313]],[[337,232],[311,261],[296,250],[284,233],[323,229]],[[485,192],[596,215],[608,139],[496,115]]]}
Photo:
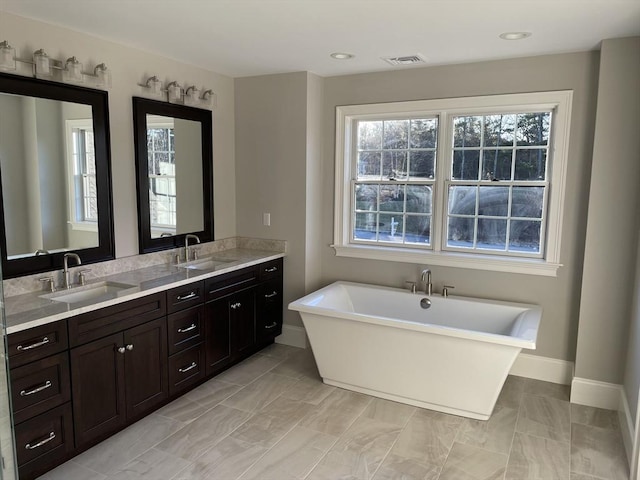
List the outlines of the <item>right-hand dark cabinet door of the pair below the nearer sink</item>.
{"label": "right-hand dark cabinet door of the pair below the nearer sink", "polygon": [[164,318],[124,331],[127,418],[167,398],[167,326]]}

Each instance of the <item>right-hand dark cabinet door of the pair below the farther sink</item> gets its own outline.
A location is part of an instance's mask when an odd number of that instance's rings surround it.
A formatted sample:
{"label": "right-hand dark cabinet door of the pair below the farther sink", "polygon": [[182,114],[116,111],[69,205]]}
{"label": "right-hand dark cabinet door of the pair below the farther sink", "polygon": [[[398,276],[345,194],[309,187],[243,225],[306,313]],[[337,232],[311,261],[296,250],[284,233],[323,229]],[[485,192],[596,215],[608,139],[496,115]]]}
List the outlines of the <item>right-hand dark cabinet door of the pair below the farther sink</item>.
{"label": "right-hand dark cabinet door of the pair below the farther sink", "polygon": [[248,288],[231,296],[231,358],[249,355],[256,345],[256,289]]}

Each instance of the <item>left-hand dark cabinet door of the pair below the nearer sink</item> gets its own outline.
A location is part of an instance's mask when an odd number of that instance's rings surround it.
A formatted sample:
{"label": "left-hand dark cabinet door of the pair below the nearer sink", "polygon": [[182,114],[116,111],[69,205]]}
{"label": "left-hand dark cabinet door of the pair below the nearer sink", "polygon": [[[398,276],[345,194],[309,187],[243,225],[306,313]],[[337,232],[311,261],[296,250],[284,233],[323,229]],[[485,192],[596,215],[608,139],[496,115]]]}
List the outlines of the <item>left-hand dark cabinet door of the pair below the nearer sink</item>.
{"label": "left-hand dark cabinet door of the pair below the nearer sink", "polygon": [[126,422],[122,333],[71,350],[73,420],[78,447]]}

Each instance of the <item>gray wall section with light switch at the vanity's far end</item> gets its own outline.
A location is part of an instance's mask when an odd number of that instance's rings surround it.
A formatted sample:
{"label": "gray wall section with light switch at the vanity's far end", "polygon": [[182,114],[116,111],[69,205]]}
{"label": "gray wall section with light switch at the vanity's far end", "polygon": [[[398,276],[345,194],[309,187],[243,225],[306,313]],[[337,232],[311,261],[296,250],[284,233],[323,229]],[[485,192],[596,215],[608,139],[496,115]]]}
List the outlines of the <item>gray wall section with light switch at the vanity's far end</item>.
{"label": "gray wall section with light switch at the vanity's far end", "polygon": [[305,291],[307,85],[305,72],[235,80],[237,233],[288,241],[285,306]]}

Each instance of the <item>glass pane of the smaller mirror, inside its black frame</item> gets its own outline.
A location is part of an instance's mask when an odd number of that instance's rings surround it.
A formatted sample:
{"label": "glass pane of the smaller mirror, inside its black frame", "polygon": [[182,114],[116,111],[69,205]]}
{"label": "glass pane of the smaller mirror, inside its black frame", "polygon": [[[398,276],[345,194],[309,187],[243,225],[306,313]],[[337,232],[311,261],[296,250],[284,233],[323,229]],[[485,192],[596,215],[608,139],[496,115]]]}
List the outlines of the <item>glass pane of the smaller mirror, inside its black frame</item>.
{"label": "glass pane of the smaller mirror, inside its black frame", "polygon": [[[151,238],[204,230],[200,123],[147,115]],[[180,199],[180,201],[178,201]]]}

